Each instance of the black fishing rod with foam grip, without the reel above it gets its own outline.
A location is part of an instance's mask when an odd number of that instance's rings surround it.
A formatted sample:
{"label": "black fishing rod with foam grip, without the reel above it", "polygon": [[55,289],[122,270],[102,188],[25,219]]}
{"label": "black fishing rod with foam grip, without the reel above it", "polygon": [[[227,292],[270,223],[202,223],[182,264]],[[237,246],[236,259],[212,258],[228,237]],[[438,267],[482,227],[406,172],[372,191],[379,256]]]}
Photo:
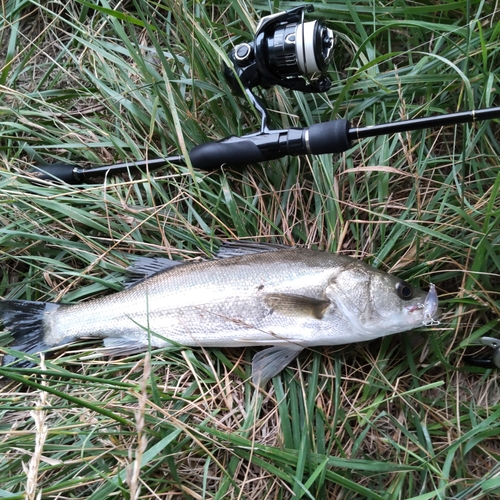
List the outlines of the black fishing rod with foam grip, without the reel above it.
{"label": "black fishing rod with foam grip, without the reel above it", "polygon": [[[224,165],[239,167],[285,156],[343,153],[352,147],[352,141],[367,137],[473,123],[493,118],[500,118],[500,107],[414,118],[370,127],[351,127],[347,120],[333,120],[302,129],[270,130],[200,144],[189,152],[189,159],[193,168],[208,171],[219,169]],[[151,171],[169,164],[185,166],[187,162],[184,156],[169,156],[90,168],[53,164],[36,167],[34,175],[40,180],[55,178],[68,184],[82,184],[107,174],[122,174],[144,169]]]}

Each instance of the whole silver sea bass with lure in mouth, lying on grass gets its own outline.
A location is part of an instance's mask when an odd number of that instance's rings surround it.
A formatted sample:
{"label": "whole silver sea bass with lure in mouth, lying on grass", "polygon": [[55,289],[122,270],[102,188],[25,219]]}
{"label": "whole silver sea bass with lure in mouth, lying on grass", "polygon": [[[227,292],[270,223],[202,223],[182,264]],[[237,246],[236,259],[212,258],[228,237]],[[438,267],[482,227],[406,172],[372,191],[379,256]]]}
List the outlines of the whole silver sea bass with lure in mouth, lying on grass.
{"label": "whole silver sea bass with lure in mouth, lying on grass", "polygon": [[272,346],[252,361],[263,385],[305,347],[403,332],[440,314],[434,286],[426,293],[355,258],[304,248],[233,243],[213,260],[141,258],[131,270],[141,278],[87,302],[0,301],[12,348],[36,353],[96,337],[113,355]]}

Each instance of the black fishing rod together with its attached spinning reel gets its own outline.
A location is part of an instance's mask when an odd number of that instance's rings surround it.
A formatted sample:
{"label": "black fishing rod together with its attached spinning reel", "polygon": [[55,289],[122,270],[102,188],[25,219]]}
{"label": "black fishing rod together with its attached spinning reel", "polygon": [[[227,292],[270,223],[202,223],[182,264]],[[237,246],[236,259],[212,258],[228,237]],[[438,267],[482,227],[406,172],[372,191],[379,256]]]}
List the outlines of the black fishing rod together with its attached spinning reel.
{"label": "black fishing rod together with its attached spinning reel", "polygon": [[[369,137],[500,118],[500,107],[493,107],[368,127],[352,127],[348,120],[340,119],[306,128],[270,129],[268,111],[253,93],[254,87],[280,85],[309,93],[326,92],[331,87],[326,70],[336,37],[322,20],[305,21],[305,12],[313,10],[312,5],[306,5],[263,17],[254,40],[231,50],[228,54],[231,66],[224,67],[224,74],[234,90],[244,89],[260,113],[260,131],[195,146],[189,152],[193,168],[213,171],[225,165],[240,167],[285,156],[338,154],[349,150],[353,141]],[[82,184],[108,174],[187,164],[182,155],[94,167],[58,163],[34,167],[33,175],[40,180]]]}

